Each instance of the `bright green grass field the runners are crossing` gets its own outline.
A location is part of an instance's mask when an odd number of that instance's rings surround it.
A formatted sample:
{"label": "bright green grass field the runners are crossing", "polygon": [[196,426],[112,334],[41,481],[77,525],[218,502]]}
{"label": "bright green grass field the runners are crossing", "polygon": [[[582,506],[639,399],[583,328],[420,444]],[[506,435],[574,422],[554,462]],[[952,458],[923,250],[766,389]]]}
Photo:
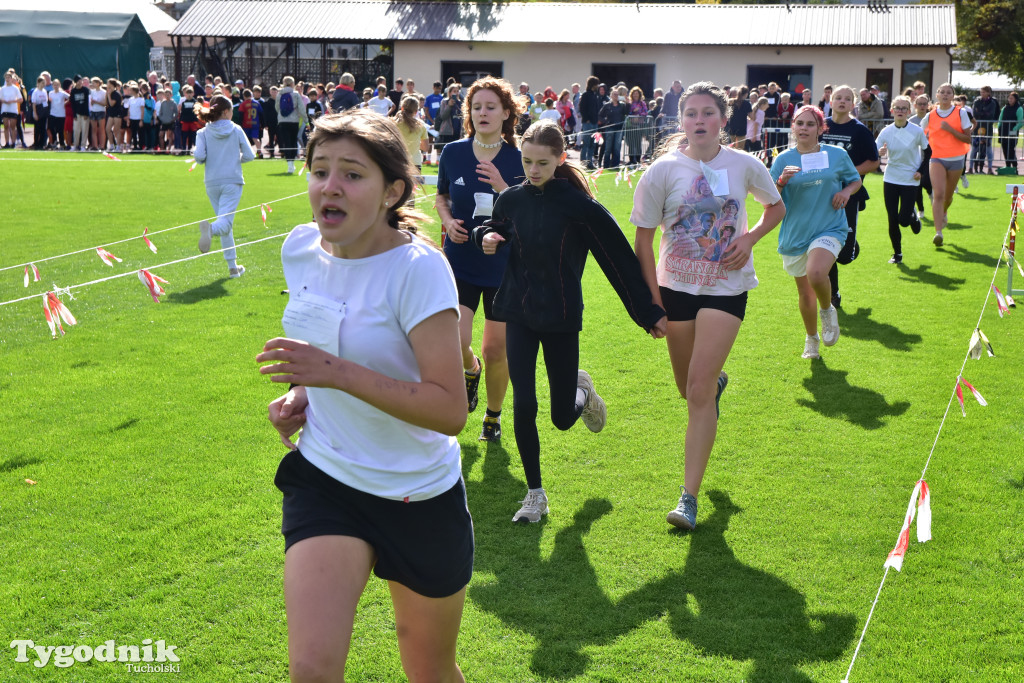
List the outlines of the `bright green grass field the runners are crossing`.
{"label": "bright green grass field the runners are crossing", "polygon": [[[241,206],[303,191],[284,166],[247,165]],[[692,533],[664,519],[686,428],[665,343],[629,321],[592,263],[581,362],[608,426],[541,423],[548,518],[510,523],[525,490],[511,392],[501,446],[476,440],[482,409],[460,437],[477,543],[459,643],[467,679],[842,679],[1006,230],[1005,180],[972,178],[947,246],[932,246],[926,221],[905,234],[902,267],[887,263],[882,179],[868,178],[862,254],[841,272],[843,337],[820,362],[800,357],[796,288],[774,236],[757,247],[761,286],[726,366]],[[124,259],[113,268],[94,251],[40,259],[207,217],[202,169],[5,153],[0,181],[0,267],[36,259],[42,276],[25,289],[22,268],[0,270],[0,302],[130,273],[73,290],[79,325],[55,341],[40,297],[0,306],[0,681],[136,676],[124,664],[16,663],[14,640],[147,638],[176,646],[180,673],[166,674],[176,681],[286,680],[272,483],[284,450],[265,417],[281,387],[254,360],[281,331],[282,240],[241,248],[240,280],[219,254],[154,270],[169,281],[156,304],[133,271],[196,254],[195,226],[152,236],[158,254],[141,240],[109,247]],[[632,191],[605,176],[598,198],[632,241]],[[239,244],[309,218],[304,197],[272,206],[267,227],[258,209],[238,216]],[[1002,268],[1000,289],[1006,280]],[[1000,319],[988,305],[981,327],[996,356],[969,360],[965,376],[989,407],[968,398],[965,419],[954,401],[927,476],[935,540],[911,540],[902,572],[890,572],[851,681],[1024,679],[1021,315]],[[546,404],[542,391],[542,417]],[[402,679],[378,580],[348,679]]]}

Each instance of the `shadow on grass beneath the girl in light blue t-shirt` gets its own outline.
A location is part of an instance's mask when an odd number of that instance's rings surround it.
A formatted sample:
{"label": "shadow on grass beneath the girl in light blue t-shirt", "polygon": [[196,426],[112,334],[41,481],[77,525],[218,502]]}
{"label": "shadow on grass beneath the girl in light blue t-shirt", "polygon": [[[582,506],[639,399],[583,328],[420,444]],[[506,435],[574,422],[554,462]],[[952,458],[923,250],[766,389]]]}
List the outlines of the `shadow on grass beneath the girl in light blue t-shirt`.
{"label": "shadow on grass beneath the girl in light blue t-shirt", "polygon": [[811,376],[804,380],[804,387],[814,400],[799,398],[797,402],[826,418],[846,419],[864,429],[878,429],[885,425],[883,418],[903,415],[910,408],[908,401],[890,404],[878,391],[853,386],[847,379],[849,374],[846,370],[830,370],[822,360],[812,360]]}

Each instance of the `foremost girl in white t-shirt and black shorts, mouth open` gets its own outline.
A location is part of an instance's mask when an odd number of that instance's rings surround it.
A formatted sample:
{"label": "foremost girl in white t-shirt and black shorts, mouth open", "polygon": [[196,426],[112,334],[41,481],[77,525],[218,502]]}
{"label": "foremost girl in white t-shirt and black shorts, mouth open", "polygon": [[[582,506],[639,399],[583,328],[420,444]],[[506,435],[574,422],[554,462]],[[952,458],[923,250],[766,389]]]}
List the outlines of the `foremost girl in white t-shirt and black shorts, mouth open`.
{"label": "foremost girl in white t-shirt and black shorts, mouth open", "polygon": [[473,566],[459,441],[466,390],[444,256],[411,228],[415,169],[393,121],[322,117],[310,135],[315,223],[282,248],[288,338],[260,372],[282,440],[292,680],[344,678],[359,596],[388,582],[411,680],[463,681],[456,641]]}

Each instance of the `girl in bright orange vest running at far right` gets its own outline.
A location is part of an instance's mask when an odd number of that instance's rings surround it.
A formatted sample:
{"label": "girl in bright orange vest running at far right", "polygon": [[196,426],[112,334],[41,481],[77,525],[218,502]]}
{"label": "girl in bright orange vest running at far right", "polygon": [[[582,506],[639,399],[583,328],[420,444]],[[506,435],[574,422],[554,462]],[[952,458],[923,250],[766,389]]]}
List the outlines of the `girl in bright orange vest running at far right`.
{"label": "girl in bright orange vest running at far right", "polygon": [[939,86],[935,91],[935,109],[921,120],[921,127],[932,147],[932,160],[928,163],[935,221],[932,244],[941,247],[942,228],[949,222],[949,205],[964,173],[964,155],[971,150],[971,119],[962,106],[953,104],[953,86],[948,83]]}

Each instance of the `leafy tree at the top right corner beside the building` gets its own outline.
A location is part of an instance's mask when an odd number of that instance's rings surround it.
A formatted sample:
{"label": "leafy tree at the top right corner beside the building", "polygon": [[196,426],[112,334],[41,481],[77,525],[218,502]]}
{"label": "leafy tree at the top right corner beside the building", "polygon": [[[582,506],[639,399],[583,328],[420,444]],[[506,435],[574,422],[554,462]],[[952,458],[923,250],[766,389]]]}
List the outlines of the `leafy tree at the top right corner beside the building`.
{"label": "leafy tree at the top right corner beside the building", "polygon": [[984,61],[1014,81],[1024,80],[1024,2],[957,0],[957,57]]}

